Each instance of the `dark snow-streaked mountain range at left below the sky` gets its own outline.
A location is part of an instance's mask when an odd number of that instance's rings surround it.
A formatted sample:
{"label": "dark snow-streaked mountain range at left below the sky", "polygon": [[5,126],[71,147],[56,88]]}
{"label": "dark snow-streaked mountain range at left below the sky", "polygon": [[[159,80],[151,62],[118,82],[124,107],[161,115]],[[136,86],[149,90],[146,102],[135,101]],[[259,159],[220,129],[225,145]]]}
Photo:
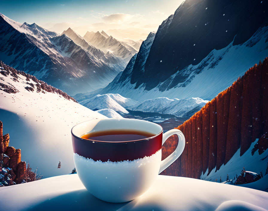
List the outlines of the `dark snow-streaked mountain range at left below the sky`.
{"label": "dark snow-streaked mountain range at left below the sky", "polygon": [[35,23],[21,24],[0,15],[1,60],[68,94],[104,87],[124,70],[122,59],[74,37],[79,44]]}

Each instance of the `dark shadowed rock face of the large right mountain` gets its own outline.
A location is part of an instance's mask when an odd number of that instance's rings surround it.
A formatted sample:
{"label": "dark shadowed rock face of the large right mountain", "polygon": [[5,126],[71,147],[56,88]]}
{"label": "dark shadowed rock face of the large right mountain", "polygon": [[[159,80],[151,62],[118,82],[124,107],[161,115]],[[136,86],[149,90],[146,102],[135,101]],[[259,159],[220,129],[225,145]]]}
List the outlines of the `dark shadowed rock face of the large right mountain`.
{"label": "dark shadowed rock face of the large right mountain", "polygon": [[137,82],[136,86],[145,83],[145,89],[150,90],[186,66],[199,64],[213,49],[222,49],[232,41],[234,46],[246,42],[268,23],[267,8],[267,1],[186,0],[170,24],[156,33],[144,77],[131,82]]}

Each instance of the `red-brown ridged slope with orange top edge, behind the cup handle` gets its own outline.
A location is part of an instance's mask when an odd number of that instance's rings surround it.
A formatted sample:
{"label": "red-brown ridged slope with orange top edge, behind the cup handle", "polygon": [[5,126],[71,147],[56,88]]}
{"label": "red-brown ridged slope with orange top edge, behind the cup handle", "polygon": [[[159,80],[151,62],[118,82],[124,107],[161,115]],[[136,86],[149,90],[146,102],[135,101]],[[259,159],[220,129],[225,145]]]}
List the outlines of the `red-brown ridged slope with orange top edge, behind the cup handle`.
{"label": "red-brown ridged slope with orange top edge, behind the cup handle", "polygon": [[[210,173],[226,164],[239,148],[243,155],[256,138],[259,141],[254,150],[263,153],[268,147],[268,135],[263,135],[268,132],[267,117],[268,57],[177,127],[185,135],[185,150],[163,173],[199,178],[207,169]],[[162,154],[166,153],[164,149]],[[174,167],[180,170],[178,174],[170,174]]]}

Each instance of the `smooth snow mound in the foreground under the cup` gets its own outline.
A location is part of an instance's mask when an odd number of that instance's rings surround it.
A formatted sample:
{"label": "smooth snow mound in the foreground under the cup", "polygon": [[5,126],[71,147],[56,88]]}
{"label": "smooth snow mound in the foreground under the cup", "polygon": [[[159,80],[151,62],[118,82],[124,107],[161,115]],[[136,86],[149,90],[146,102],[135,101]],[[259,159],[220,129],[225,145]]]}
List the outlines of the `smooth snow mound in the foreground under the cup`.
{"label": "smooth snow mound in the foreground under the cup", "polygon": [[[133,201],[107,203],[91,195],[77,174],[0,188],[2,210],[268,210],[268,193],[186,177],[158,175]],[[7,203],[8,202],[8,203]]]}

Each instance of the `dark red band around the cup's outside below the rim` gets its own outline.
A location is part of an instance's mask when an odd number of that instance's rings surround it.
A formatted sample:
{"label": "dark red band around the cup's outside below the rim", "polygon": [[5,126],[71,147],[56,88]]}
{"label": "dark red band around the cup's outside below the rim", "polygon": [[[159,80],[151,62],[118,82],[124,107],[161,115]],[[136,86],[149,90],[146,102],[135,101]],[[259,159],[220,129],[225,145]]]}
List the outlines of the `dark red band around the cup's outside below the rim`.
{"label": "dark red band around the cup's outside below the rim", "polygon": [[113,162],[135,160],[145,156],[151,156],[162,147],[163,131],[158,135],[139,141],[128,142],[100,142],[79,138],[72,134],[74,153],[80,156]]}

